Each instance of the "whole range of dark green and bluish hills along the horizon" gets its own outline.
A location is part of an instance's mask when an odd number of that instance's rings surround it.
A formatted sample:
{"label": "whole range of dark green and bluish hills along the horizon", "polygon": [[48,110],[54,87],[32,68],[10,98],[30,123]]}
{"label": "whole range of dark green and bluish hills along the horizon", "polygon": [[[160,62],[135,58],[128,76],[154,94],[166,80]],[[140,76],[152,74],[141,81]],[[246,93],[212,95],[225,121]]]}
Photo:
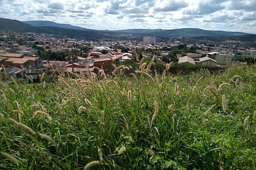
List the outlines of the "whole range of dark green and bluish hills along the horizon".
{"label": "whole range of dark green and bluish hills along the horizon", "polygon": [[[132,35],[149,35],[149,36],[246,36],[255,38],[255,34],[248,34],[243,32],[228,32],[228,31],[210,31],[198,28],[182,28],[173,30],[162,29],[127,29],[127,30],[93,30],[70,24],[60,24],[51,21],[18,21],[12,19],[0,18],[0,30],[8,30],[15,32],[33,32],[46,33],[66,36],[79,37],[95,37],[100,38],[102,34],[132,34]],[[251,36],[250,36],[251,35]],[[231,37],[229,39],[232,39]],[[237,38],[236,38],[237,39]],[[250,41],[248,39],[248,41]]]}

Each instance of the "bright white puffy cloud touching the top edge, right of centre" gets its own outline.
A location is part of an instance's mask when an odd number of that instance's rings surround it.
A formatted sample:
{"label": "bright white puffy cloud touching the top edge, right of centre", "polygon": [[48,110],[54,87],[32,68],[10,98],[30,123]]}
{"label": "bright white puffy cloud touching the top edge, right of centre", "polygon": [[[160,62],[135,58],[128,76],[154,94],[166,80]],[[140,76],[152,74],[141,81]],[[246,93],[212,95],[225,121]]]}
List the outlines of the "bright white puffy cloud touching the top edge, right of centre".
{"label": "bright white puffy cloud touching the top edge, right of centre", "polygon": [[156,12],[169,12],[169,11],[179,11],[182,8],[188,6],[188,3],[185,1],[169,1],[167,4],[161,4],[163,7],[156,7],[154,11]]}

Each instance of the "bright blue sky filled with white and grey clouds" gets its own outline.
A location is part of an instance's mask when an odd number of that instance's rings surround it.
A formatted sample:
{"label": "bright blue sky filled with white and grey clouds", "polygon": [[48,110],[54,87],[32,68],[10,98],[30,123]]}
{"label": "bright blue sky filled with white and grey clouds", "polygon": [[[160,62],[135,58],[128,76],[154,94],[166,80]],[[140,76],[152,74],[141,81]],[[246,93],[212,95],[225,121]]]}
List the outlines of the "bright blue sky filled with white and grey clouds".
{"label": "bright blue sky filled with white and grey clouds", "polygon": [[1,18],[97,30],[200,28],[256,34],[256,0],[0,0],[0,6]]}

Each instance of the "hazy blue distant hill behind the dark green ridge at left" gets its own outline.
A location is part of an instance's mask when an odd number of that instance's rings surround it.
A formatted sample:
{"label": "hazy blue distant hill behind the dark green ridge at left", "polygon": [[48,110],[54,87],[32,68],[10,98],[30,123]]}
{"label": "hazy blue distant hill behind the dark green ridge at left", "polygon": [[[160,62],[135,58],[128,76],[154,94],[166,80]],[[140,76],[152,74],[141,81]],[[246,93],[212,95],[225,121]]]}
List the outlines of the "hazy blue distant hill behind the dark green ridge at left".
{"label": "hazy blue distant hill behind the dark green ridge at left", "polygon": [[95,31],[92,29],[72,26],[70,24],[56,23],[52,21],[23,21],[23,22],[34,27],[60,27],[60,28],[67,28],[67,29],[73,29],[73,30]]}

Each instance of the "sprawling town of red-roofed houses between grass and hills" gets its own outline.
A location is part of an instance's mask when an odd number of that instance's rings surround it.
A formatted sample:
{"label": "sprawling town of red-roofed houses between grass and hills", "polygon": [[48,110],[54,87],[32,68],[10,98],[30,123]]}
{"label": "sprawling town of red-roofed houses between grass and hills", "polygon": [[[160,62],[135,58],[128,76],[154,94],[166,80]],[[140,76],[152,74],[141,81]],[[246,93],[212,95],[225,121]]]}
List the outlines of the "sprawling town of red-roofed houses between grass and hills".
{"label": "sprawling town of red-roofed houses between grass and hills", "polygon": [[[2,32],[0,64],[5,67],[7,74],[0,74],[0,79],[26,79],[25,75],[37,75],[39,70],[45,73],[86,72],[88,69],[98,72],[98,68],[107,71],[113,69],[113,64],[129,63],[135,66],[136,55],[139,60],[155,57],[158,67],[173,62],[176,67],[217,68],[231,64],[253,64],[256,49],[231,45],[186,44],[181,41],[172,42],[171,39],[168,42],[157,42],[156,37],[151,36],[143,37],[143,41],[86,41],[82,38],[59,38],[48,34]],[[37,76],[32,77],[37,79]]]}

